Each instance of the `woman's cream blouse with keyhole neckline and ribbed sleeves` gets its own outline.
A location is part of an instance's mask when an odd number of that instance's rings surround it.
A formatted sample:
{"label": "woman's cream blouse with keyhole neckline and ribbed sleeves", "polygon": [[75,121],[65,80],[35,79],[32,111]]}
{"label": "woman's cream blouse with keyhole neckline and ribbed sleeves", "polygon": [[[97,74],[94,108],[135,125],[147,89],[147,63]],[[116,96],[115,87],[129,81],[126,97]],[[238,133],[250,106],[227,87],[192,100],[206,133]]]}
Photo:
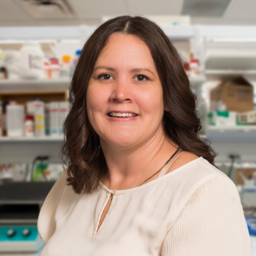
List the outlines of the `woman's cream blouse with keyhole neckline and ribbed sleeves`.
{"label": "woman's cream blouse with keyhole neckline and ribbed sleeves", "polygon": [[252,244],[233,181],[200,157],[140,187],[77,195],[66,174],[46,197],[40,256],[251,256]]}

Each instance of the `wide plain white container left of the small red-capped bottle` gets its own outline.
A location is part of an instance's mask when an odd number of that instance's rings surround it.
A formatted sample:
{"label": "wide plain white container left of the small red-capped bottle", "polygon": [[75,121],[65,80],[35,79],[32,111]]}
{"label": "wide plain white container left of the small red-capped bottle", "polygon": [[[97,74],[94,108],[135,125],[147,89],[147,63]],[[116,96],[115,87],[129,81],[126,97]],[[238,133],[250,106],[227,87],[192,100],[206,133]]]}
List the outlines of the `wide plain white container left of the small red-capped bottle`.
{"label": "wide plain white container left of the small red-capped bottle", "polygon": [[6,125],[8,137],[22,137],[24,121],[24,106],[8,105],[6,107]]}

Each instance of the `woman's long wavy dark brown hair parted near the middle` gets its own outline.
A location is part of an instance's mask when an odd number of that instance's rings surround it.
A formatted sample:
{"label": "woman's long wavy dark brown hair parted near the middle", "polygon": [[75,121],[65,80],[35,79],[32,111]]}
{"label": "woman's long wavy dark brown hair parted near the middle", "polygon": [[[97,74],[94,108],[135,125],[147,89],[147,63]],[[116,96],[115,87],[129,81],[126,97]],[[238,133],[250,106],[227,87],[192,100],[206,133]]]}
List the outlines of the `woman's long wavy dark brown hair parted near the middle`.
{"label": "woman's long wavy dark brown hair parted near the middle", "polygon": [[87,116],[86,90],[95,62],[113,33],[137,36],[149,47],[162,83],[164,104],[170,110],[164,111],[163,116],[166,137],[214,164],[216,154],[197,134],[201,125],[196,96],[190,90],[180,55],[153,21],[125,15],[106,21],[94,31],[75,68],[69,91],[71,109],[63,124],[65,143],[61,149],[68,185],[77,194],[91,193],[98,188],[100,175],[108,170],[99,135]]}

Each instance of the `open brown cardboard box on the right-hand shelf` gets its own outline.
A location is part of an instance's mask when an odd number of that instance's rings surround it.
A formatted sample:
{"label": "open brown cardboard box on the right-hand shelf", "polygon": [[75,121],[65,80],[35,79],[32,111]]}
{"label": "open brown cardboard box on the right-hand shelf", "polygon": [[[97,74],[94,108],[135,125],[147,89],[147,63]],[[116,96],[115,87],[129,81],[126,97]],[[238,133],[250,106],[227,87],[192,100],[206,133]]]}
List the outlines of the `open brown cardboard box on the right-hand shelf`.
{"label": "open brown cardboard box on the right-hand shelf", "polygon": [[210,93],[211,110],[226,105],[226,111],[246,112],[253,110],[253,86],[243,77],[223,81]]}

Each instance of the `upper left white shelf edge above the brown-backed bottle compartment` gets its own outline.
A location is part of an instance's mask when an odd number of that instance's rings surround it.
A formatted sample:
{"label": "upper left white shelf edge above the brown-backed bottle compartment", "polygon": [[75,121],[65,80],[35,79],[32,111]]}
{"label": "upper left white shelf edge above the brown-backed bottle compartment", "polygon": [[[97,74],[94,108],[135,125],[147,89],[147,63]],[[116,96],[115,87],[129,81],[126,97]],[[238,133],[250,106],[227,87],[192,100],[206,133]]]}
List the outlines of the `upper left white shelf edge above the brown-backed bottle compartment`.
{"label": "upper left white shelf edge above the brown-backed bottle compartment", "polygon": [[28,91],[66,91],[69,89],[70,79],[2,79],[1,92]]}

